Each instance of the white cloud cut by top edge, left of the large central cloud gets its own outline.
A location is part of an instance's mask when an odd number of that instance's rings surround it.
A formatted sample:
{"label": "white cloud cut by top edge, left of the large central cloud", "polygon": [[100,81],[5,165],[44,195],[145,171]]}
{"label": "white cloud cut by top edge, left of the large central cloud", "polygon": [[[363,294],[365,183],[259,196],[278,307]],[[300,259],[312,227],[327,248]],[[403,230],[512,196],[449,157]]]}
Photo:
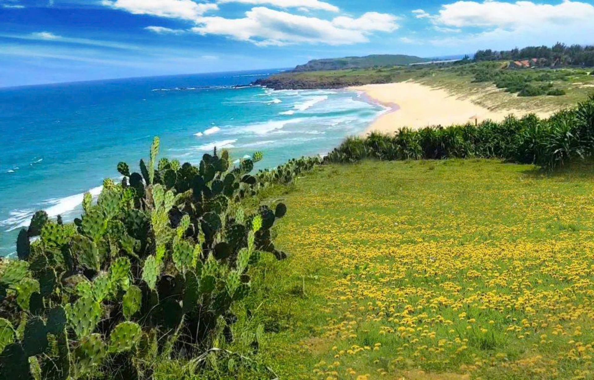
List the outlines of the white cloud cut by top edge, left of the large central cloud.
{"label": "white cloud cut by top edge, left of the large central cloud", "polygon": [[216,11],[214,3],[195,3],[192,0],[102,0],[106,7],[122,9],[132,14],[195,20],[208,11]]}

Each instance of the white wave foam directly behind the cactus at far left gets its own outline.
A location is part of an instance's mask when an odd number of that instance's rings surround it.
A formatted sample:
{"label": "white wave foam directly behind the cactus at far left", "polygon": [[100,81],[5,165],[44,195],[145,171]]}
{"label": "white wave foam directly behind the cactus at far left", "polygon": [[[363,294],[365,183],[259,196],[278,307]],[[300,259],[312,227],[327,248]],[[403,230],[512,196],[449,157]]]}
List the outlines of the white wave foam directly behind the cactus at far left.
{"label": "white wave foam directly behind the cactus at far left", "polygon": [[[97,186],[89,190],[93,197],[97,197],[101,193],[103,186]],[[48,213],[49,217],[56,217],[58,215],[67,214],[69,211],[74,210],[78,205],[83,203],[84,193],[69,195],[68,197],[58,198],[53,200],[44,201],[43,204],[49,204],[50,207],[46,207],[43,210]],[[10,211],[10,217],[5,220],[0,220],[0,227],[8,227],[6,230],[12,231],[18,228],[27,227],[31,222],[31,217],[36,210],[13,210]]]}

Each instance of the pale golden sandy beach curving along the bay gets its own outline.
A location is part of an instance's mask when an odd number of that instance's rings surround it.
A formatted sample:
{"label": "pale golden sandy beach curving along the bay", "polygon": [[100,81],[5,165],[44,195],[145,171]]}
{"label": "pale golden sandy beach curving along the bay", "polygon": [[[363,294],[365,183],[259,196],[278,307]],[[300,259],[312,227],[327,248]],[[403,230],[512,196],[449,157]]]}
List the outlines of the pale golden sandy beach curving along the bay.
{"label": "pale golden sandy beach curving along the bay", "polygon": [[[391,133],[403,126],[419,129],[430,125],[448,126],[466,124],[469,121],[474,123],[475,117],[479,123],[485,119],[502,121],[510,113],[519,117],[530,113],[527,110],[514,109],[489,110],[476,105],[471,100],[458,99],[456,95],[446,90],[431,88],[412,81],[368,84],[350,87],[350,89],[364,91],[371,99],[392,109],[369,125],[364,134],[372,131]],[[535,113],[545,118],[552,112]]]}

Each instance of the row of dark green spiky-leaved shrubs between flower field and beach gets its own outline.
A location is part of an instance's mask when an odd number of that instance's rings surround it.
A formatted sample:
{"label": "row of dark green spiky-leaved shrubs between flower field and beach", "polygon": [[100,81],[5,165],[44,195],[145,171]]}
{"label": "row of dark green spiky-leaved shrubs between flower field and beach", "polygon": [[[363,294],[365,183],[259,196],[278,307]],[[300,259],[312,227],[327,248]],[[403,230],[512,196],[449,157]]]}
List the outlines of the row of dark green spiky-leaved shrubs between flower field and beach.
{"label": "row of dark green spiky-leaved shrubs between flower field and beach", "polygon": [[548,119],[534,114],[474,126],[401,128],[393,135],[373,132],[349,137],[328,154],[329,162],[483,157],[536,164],[545,169],[594,156],[594,94]]}

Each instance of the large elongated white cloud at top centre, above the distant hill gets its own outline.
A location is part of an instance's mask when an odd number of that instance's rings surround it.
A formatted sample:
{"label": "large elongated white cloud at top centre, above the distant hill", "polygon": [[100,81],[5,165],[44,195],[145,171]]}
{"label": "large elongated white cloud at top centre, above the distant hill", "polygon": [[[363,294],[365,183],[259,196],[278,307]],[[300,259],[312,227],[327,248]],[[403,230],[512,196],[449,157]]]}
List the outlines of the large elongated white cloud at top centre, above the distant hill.
{"label": "large elongated white cloud at top centre, above the distant hill", "polygon": [[396,17],[392,15],[375,12],[356,19],[337,17],[330,21],[256,7],[245,12],[244,18],[202,17],[197,20],[199,26],[192,30],[200,34],[228,36],[258,46],[293,43],[349,45],[368,42],[371,31],[397,29],[395,21]]}

